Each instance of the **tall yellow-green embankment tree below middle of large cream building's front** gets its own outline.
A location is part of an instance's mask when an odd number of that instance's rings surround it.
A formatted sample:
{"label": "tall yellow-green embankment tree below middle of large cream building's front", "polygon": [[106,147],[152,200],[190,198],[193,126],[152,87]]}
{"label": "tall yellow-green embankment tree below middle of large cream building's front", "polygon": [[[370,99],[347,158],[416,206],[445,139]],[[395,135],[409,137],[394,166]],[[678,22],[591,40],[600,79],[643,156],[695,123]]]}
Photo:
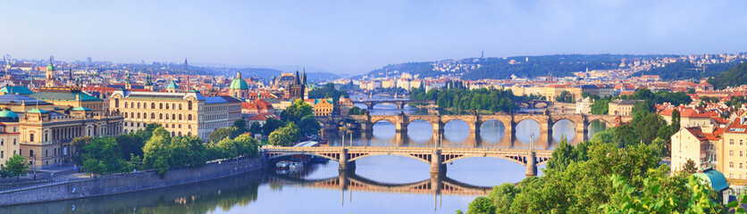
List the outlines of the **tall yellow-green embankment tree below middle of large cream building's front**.
{"label": "tall yellow-green embankment tree below middle of large cream building's front", "polygon": [[161,178],[171,169],[172,150],[169,146],[171,137],[165,128],[156,128],[153,136],[143,147],[143,165],[147,169],[155,169]]}

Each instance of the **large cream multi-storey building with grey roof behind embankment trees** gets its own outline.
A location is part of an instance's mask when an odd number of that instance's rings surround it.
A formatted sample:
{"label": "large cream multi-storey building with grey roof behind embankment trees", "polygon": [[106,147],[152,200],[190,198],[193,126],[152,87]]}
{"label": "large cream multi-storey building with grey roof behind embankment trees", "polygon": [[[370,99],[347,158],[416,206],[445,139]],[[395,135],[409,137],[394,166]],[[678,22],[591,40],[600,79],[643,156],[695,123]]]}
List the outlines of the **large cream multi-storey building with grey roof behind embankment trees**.
{"label": "large cream multi-storey building with grey roof behind embankment trees", "polygon": [[207,139],[217,128],[233,125],[241,118],[241,101],[231,96],[205,97],[187,93],[114,91],[111,111],[124,116],[124,131],[135,132],[150,123],[161,124],[172,136]]}

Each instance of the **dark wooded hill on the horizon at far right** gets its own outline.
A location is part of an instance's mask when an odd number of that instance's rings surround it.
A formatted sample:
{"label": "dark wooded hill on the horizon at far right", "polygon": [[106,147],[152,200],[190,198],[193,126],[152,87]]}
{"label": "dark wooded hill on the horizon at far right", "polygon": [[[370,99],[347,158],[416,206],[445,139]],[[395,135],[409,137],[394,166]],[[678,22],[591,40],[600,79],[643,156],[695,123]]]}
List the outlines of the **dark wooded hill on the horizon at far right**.
{"label": "dark wooded hill on the horizon at far right", "polygon": [[642,75],[659,75],[659,77],[663,79],[700,79],[716,76],[739,63],[740,62],[709,64],[705,67],[705,71],[703,71],[702,67],[699,67],[692,62],[672,62],[667,63],[664,67],[635,72],[632,76],[641,77]]}

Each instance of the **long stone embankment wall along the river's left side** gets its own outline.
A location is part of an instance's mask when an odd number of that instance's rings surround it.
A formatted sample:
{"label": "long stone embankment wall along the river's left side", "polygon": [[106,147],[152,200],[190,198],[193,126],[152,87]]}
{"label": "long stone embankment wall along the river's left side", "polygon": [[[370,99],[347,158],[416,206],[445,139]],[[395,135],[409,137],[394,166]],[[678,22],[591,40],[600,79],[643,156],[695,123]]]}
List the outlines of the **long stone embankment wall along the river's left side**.
{"label": "long stone embankment wall along the river's left side", "polygon": [[0,206],[35,202],[51,202],[115,193],[130,193],[173,185],[185,185],[262,169],[260,158],[212,162],[198,169],[173,169],[164,179],[155,172],[130,173],[121,177],[100,177],[77,181],[55,182],[13,190],[0,190]]}

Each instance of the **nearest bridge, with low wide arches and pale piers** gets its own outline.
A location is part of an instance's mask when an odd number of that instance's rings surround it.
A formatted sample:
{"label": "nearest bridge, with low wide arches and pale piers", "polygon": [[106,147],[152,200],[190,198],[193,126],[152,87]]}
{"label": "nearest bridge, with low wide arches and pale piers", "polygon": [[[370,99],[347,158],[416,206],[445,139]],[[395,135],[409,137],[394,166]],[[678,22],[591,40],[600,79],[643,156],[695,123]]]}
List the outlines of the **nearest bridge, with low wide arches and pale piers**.
{"label": "nearest bridge, with low wide arches and pale piers", "polygon": [[260,152],[266,160],[292,155],[315,155],[340,163],[340,170],[355,170],[356,161],[376,155],[399,155],[423,161],[431,165],[431,173],[446,173],[449,162],[473,157],[491,157],[513,161],[526,167],[526,176],[537,175],[537,165],[546,163],[552,157],[550,150],[494,149],[494,148],[448,148],[448,147],[282,147],[264,146]]}

